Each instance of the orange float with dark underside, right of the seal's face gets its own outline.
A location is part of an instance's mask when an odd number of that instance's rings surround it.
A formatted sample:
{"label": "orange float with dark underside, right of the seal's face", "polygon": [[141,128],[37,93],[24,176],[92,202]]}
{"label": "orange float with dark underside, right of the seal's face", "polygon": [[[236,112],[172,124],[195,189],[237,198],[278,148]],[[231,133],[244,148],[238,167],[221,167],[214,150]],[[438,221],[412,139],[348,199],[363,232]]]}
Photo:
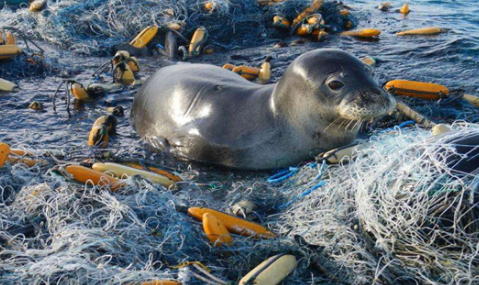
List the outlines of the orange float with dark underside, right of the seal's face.
{"label": "orange float with dark underside, right of the seal's face", "polygon": [[391,80],[384,89],[394,95],[427,100],[439,100],[449,95],[449,89],[443,85],[409,80]]}

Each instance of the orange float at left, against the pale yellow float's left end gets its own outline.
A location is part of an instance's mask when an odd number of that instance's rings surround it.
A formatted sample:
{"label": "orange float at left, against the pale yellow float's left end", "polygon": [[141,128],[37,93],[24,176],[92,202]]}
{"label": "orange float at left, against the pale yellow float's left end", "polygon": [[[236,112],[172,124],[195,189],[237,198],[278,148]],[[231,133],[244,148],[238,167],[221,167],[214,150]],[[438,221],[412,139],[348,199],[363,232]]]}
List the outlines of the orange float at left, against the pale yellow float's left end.
{"label": "orange float at left, against the pale yellow float's left end", "polygon": [[91,181],[93,185],[109,185],[111,191],[116,191],[126,185],[125,182],[122,182],[119,179],[80,165],[70,165],[67,166],[65,170],[73,175],[73,178],[78,182],[87,183],[88,181]]}

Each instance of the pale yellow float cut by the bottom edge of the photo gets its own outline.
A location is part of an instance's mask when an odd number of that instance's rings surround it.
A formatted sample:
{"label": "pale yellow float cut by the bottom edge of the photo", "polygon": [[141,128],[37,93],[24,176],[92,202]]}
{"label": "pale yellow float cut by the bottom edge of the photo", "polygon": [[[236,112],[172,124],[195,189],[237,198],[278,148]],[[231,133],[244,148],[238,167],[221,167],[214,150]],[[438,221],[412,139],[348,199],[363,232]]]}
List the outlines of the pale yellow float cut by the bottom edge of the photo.
{"label": "pale yellow float cut by the bottom edge of the photo", "polygon": [[241,278],[239,285],[277,285],[291,274],[297,265],[293,255],[270,257]]}

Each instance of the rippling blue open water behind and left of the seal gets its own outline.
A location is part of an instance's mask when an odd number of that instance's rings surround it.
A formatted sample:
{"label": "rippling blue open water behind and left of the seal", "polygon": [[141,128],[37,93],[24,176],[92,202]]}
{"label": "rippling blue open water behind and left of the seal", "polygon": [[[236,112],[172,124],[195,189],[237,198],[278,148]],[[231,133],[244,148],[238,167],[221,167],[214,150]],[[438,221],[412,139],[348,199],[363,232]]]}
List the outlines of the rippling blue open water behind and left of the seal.
{"label": "rippling blue open water behind and left of the seal", "polygon": [[[410,79],[441,83],[451,89],[461,88],[468,93],[479,92],[479,6],[474,0],[464,1],[412,1],[411,13],[404,16],[394,12],[401,1],[391,1],[390,12],[376,9],[378,1],[345,1],[358,18],[358,28],[376,28],[382,31],[379,40],[365,41],[350,37],[331,36],[324,42],[306,42],[286,48],[273,48],[274,43],[293,41],[296,37],[268,39],[258,47],[243,47],[213,55],[204,55],[193,62],[223,65],[248,64],[257,66],[268,55],[273,56],[273,82],[278,80],[288,64],[300,54],[317,48],[339,48],[358,57],[378,59],[376,76],[381,83],[391,79]],[[68,9],[68,6],[64,7]],[[19,12],[17,12],[19,13]],[[1,17],[0,17],[1,18]],[[433,36],[398,37],[395,32],[427,26],[450,29]],[[240,32],[240,31],[239,31]],[[42,42],[47,47],[47,57],[54,59],[73,72],[70,77],[86,84],[90,74],[107,58],[75,55],[55,45]],[[161,58],[140,58],[141,76],[146,79],[161,66],[172,64]],[[5,68],[0,65],[0,68]],[[9,78],[6,78],[9,79]],[[106,79],[108,80],[108,79]],[[38,147],[83,147],[88,131],[97,117],[105,114],[108,106],[122,105],[126,116],[119,119],[120,136],[114,138],[111,147],[128,149],[139,146],[138,137],[128,122],[136,88],[110,94],[94,102],[81,104],[68,117],[64,104],[59,100],[58,112],[52,110],[51,96],[61,82],[58,74],[47,77],[29,77],[14,80],[21,87],[16,93],[2,93],[0,105],[0,140],[10,144],[34,144]],[[44,103],[45,111],[27,108],[29,102]],[[438,107],[435,102],[419,102],[419,110],[436,121],[466,119],[477,121],[475,109],[467,104]],[[444,110],[447,110],[445,112]],[[138,147],[141,149],[142,147]]]}

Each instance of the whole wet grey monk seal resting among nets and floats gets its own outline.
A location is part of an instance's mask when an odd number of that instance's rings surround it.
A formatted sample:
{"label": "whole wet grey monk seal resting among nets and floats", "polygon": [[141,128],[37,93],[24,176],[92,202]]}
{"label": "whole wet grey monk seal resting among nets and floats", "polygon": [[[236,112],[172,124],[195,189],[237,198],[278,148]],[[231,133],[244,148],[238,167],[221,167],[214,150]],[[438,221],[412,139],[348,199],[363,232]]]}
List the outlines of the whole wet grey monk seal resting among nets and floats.
{"label": "whole wet grey monk seal resting among nets and floats", "polygon": [[361,60],[319,49],[269,85],[212,65],[164,67],[136,94],[131,123],[177,157],[267,170],[351,143],[360,122],[391,112],[395,102]]}

